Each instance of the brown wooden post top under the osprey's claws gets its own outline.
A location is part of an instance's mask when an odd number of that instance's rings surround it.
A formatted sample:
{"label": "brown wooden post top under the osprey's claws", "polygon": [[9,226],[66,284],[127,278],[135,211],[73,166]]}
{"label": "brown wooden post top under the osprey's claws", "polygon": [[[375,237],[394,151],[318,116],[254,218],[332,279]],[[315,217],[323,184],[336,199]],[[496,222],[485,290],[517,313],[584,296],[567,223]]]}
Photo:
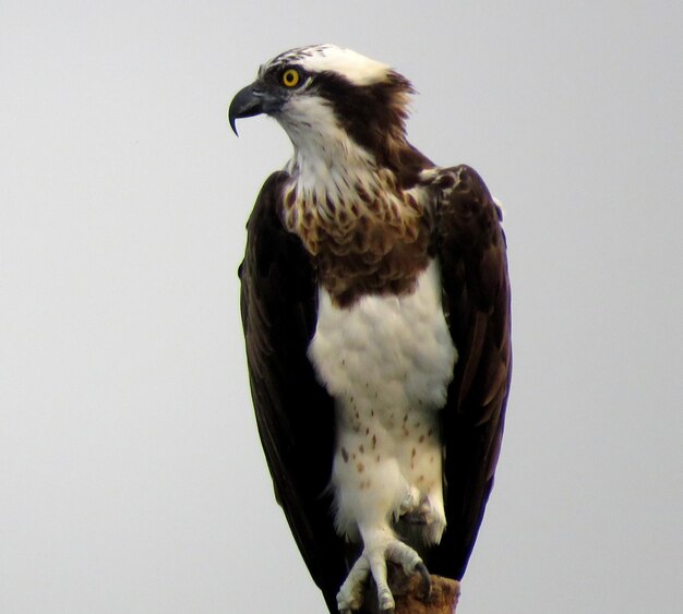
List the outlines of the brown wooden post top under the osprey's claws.
{"label": "brown wooden post top under the osprey's claws", "polygon": [[[388,586],[396,600],[394,614],[453,614],[460,595],[460,582],[441,576],[430,576],[432,591],[428,601],[422,594],[422,578],[418,574],[406,576],[403,569],[388,564]],[[374,582],[366,590],[362,614],[381,614]]]}

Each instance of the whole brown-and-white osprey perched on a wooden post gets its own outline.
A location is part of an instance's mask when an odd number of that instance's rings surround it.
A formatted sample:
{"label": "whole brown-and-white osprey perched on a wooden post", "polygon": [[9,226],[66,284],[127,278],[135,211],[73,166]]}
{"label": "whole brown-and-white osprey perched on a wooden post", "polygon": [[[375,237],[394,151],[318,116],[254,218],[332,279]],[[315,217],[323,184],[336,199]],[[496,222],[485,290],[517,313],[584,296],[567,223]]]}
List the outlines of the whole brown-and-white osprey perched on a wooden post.
{"label": "whole brown-and-white osprey perched on a wooden post", "polygon": [[387,563],[460,579],[493,483],[511,375],[501,212],[467,166],[406,140],[410,83],[320,45],[229,108],[293,145],[247,226],[241,312],[259,433],[331,612]]}

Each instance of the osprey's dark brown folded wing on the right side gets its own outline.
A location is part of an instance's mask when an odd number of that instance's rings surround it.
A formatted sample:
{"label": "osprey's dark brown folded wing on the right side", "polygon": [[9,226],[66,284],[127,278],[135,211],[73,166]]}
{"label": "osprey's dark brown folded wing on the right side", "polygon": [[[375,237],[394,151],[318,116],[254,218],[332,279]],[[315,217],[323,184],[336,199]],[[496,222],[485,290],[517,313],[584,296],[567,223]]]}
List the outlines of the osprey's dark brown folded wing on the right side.
{"label": "osprey's dark brown folded wing on the right side", "polygon": [[460,166],[444,171],[444,177],[454,174],[459,181],[444,189],[434,237],[444,310],[458,351],[442,410],[447,527],[427,563],[432,573],[460,579],[493,486],[512,351],[500,209],[475,170]]}

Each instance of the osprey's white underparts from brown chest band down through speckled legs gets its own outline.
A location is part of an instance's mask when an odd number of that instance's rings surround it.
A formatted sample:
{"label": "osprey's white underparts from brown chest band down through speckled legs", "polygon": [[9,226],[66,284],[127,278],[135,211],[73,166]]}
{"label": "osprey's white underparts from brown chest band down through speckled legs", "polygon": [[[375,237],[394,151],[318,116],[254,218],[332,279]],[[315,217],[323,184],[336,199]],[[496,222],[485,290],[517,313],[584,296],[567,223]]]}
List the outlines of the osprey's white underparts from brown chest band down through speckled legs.
{"label": "osprey's white underparts from brown chest band down through speckled legs", "polygon": [[[403,297],[366,296],[340,309],[321,289],[309,357],[336,400],[339,532],[362,533],[427,497],[443,516],[435,410],[445,404],[457,354],[436,263]],[[445,519],[439,521],[435,538]]]}

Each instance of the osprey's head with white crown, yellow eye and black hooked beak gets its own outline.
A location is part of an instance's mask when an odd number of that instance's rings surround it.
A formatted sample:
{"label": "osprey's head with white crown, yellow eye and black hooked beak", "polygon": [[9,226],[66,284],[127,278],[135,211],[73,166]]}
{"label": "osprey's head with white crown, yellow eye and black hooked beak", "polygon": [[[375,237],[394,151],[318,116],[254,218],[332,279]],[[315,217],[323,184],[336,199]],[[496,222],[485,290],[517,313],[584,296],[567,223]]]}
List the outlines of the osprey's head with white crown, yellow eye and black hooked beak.
{"label": "osprey's head with white crown, yellow eye and black hooked beak", "polygon": [[299,152],[324,155],[335,144],[360,146],[379,164],[405,145],[412,87],[386,64],[334,45],[280,53],[232,99],[230,127],[260,113],[275,118]]}

